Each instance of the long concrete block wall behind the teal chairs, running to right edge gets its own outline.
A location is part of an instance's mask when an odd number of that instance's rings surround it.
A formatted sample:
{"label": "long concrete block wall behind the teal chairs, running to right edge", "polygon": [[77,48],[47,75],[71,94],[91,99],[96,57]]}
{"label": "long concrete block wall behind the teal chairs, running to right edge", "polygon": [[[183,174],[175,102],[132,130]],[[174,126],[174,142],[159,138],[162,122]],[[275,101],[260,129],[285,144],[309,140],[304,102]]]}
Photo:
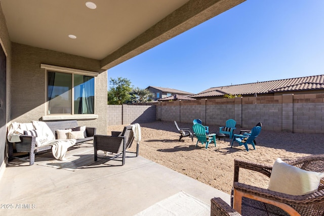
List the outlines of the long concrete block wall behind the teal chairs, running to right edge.
{"label": "long concrete block wall behind the teal chairs, running to right edge", "polygon": [[232,118],[238,127],[262,122],[262,128],[270,131],[324,134],[324,94],[162,102],[156,109],[157,119],[163,121],[200,118],[206,125],[224,125]]}

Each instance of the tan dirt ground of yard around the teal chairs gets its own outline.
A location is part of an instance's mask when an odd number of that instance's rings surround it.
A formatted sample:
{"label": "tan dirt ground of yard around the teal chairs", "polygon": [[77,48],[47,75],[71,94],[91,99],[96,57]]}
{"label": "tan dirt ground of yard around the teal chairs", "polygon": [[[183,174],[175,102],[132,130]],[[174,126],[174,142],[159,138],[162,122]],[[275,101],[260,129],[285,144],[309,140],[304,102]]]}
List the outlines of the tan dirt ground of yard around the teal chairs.
{"label": "tan dirt ground of yard around the teal chairs", "polygon": [[[293,134],[262,130],[256,139],[256,150],[249,145],[249,151],[244,146],[234,143],[227,137],[211,143],[208,149],[194,138],[182,138],[174,122],[155,121],[141,123],[141,142],[139,154],[149,160],[167,166],[181,174],[210,185],[230,194],[233,184],[234,159],[248,160],[272,165],[279,157],[283,161],[301,156],[324,154],[324,134]],[[190,128],[192,124],[178,123],[180,128]],[[108,126],[108,135],[111,131],[123,131],[125,125]],[[235,134],[239,133],[235,130]],[[244,128],[249,129],[249,128]],[[251,129],[251,128],[250,128]],[[209,126],[210,133],[219,131],[219,126]],[[132,150],[135,150],[133,145]],[[269,178],[250,170],[240,170],[239,181],[257,187],[267,188]]]}

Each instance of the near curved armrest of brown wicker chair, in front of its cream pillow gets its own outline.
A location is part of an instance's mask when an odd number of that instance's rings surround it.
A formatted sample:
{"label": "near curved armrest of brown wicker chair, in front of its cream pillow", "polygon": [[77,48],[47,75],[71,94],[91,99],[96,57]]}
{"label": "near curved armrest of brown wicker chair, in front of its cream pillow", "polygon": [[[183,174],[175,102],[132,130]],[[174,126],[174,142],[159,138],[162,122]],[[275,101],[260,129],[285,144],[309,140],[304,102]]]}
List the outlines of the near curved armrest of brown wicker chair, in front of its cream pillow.
{"label": "near curved armrest of brown wicker chair, in front of its cream pillow", "polygon": [[316,203],[318,204],[319,202],[324,201],[324,190],[320,190],[310,194],[294,196],[271,191],[265,188],[258,188],[255,186],[246,185],[239,182],[234,182],[233,188],[234,190],[238,190],[244,193],[252,194],[254,196],[262,197],[273,201],[283,202],[289,205],[316,205]]}

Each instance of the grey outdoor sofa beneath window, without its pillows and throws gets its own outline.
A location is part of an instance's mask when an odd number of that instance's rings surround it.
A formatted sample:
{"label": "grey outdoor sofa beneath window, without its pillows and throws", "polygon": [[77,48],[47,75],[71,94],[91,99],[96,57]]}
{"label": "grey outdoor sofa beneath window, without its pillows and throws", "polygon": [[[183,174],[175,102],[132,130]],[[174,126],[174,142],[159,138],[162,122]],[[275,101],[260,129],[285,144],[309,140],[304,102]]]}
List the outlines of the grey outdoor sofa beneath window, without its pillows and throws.
{"label": "grey outdoor sofa beneath window, without its pillows and throws", "polygon": [[[57,130],[68,129],[73,127],[78,127],[76,120],[66,120],[66,121],[48,121],[45,122],[53,134],[55,135],[55,139],[57,139]],[[84,132],[84,139],[76,139],[76,144],[80,144],[86,141],[93,140],[94,135],[96,134],[95,127],[86,127]],[[20,135],[21,142],[15,142],[17,152],[29,152],[29,164],[33,165],[35,161],[35,153],[47,151],[52,148],[51,145],[46,146],[36,146],[36,139],[33,136],[28,135]],[[8,157],[9,160],[12,160],[13,157],[13,143],[8,142]]]}

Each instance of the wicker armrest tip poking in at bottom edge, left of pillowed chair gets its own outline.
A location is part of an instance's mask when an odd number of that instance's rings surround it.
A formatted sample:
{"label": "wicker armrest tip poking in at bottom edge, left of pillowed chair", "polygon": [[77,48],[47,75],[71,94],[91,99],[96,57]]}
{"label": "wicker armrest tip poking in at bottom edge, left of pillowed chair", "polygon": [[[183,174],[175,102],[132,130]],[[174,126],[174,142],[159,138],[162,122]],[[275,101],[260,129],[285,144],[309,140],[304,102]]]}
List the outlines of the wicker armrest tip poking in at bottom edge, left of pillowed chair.
{"label": "wicker armrest tip poking in at bottom edge, left of pillowed chair", "polygon": [[211,199],[211,216],[241,216],[219,197]]}

